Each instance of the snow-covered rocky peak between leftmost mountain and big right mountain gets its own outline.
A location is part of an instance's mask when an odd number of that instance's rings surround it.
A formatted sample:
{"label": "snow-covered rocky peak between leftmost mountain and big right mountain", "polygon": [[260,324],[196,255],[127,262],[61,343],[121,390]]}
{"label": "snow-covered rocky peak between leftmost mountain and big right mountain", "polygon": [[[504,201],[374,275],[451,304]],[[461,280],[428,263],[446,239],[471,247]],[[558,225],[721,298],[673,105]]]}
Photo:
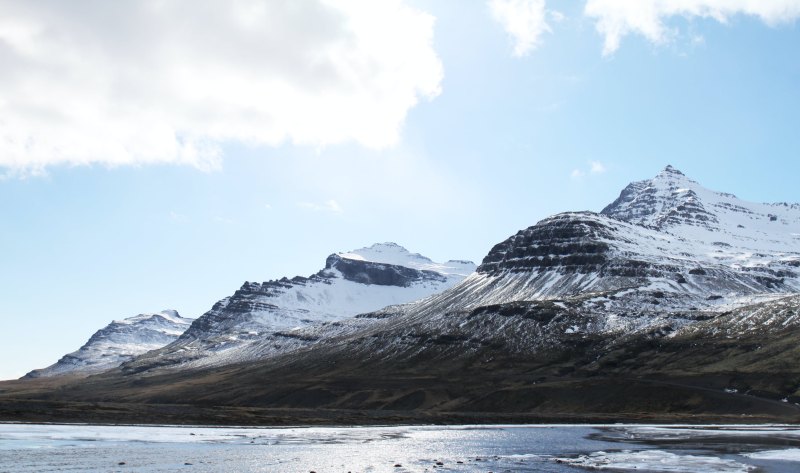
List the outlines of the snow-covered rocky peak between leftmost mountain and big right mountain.
{"label": "snow-covered rocky peak between leftmost mountain and big right mountain", "polygon": [[334,253],[309,277],[245,282],[198,318],[181,342],[229,347],[264,332],[336,321],[427,297],[474,270],[472,263],[436,263],[397,243]]}

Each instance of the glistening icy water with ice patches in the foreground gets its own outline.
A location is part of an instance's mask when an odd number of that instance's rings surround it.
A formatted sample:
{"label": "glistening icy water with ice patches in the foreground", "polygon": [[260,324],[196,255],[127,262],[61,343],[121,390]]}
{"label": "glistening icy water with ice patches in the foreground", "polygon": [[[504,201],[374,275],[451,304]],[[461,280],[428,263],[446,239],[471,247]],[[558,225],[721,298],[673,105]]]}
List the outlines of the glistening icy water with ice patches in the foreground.
{"label": "glistening icy water with ice patches in the foreground", "polygon": [[[440,463],[440,464],[437,464]],[[0,424],[0,471],[800,471],[800,428]]]}

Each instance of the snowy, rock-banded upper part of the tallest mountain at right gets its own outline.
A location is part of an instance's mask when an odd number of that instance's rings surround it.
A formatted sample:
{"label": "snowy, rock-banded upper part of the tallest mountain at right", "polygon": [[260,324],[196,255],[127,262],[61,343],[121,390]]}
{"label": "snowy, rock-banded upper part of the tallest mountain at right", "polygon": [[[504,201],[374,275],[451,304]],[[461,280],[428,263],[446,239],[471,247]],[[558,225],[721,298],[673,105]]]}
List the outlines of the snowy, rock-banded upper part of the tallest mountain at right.
{"label": "snowy, rock-banded upper part of the tallest mountain at right", "polygon": [[614,310],[723,310],[797,291],[800,205],[745,202],[668,166],[601,213],[561,213],[520,230],[413,311],[591,293],[614,293]]}

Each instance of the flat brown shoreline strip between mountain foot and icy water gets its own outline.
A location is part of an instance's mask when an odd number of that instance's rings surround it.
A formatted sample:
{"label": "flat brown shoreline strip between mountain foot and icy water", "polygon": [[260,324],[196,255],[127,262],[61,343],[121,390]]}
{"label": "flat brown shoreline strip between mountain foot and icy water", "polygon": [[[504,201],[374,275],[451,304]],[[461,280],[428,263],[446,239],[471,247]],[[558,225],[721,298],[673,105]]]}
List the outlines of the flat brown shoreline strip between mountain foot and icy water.
{"label": "flat brown shoreline strip between mountain foot and icy water", "polygon": [[800,418],[756,414],[442,412],[196,406],[0,400],[5,424],[172,427],[396,427],[396,426],[800,426]]}

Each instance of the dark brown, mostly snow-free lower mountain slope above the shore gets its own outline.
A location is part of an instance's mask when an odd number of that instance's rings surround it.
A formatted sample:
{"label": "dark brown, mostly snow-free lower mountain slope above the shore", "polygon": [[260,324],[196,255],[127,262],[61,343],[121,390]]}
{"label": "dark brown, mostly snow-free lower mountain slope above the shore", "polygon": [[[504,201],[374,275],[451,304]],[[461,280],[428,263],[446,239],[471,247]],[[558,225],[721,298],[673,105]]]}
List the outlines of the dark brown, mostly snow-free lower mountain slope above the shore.
{"label": "dark brown, mostly snow-free lower mountain slope above the shore", "polygon": [[594,330],[604,317],[590,310],[596,307],[593,299],[516,302],[411,324],[400,323],[402,312],[384,314],[355,336],[255,363],[146,375],[107,372],[40,396],[345,409],[357,410],[358,419],[388,411],[395,421],[419,413],[456,418],[473,413],[474,420],[492,419],[490,413],[527,413],[549,421],[800,420],[794,404],[800,402],[797,324],[768,337],[741,339],[698,337],[671,328],[683,318],[706,324],[713,333],[714,319],[754,317],[771,310],[769,304],[796,313],[796,297],[744,306],[729,315],[662,312],[659,326],[618,330],[614,336]]}

